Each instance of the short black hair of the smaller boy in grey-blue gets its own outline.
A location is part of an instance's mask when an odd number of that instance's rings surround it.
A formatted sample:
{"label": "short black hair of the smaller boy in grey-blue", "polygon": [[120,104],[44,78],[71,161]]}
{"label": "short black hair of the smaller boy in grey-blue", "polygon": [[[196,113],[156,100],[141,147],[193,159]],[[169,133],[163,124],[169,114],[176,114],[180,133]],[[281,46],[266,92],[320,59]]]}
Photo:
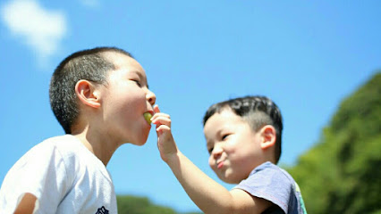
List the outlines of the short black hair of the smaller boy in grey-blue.
{"label": "short black hair of the smaller boy in grey-blue", "polygon": [[221,103],[213,104],[205,113],[203,124],[215,113],[219,113],[226,108],[231,109],[236,115],[249,122],[253,130],[258,131],[266,125],[275,128],[275,163],[277,163],[282,153],[282,130],[283,119],[278,106],[266,96],[244,96],[230,99]]}

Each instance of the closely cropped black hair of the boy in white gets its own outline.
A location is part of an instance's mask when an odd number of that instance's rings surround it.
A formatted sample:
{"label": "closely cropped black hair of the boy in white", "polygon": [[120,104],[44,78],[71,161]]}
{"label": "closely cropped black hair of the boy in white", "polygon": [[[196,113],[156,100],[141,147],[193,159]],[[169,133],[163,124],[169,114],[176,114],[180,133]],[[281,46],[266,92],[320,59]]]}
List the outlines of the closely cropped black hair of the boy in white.
{"label": "closely cropped black hair of the boy in white", "polygon": [[49,86],[50,106],[66,134],[72,133],[72,125],[80,114],[75,95],[77,82],[86,79],[105,84],[107,71],[115,70],[114,63],[102,54],[106,52],[123,53],[133,58],[131,53],[117,47],[96,47],[72,53],[53,73]]}

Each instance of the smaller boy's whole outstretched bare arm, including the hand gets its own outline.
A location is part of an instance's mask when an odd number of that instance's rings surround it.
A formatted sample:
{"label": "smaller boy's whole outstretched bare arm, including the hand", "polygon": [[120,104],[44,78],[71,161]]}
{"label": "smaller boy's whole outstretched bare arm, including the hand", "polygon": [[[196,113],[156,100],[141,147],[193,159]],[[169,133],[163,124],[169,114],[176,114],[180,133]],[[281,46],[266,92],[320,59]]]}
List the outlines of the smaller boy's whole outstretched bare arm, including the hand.
{"label": "smaller boy's whole outstretched bare arm, including the hand", "polygon": [[200,210],[206,214],[261,213],[272,205],[271,202],[253,197],[240,189],[229,192],[224,186],[207,177],[178,150],[172,136],[169,115],[161,113],[157,106],[155,112],[152,122],[157,125],[160,156]]}

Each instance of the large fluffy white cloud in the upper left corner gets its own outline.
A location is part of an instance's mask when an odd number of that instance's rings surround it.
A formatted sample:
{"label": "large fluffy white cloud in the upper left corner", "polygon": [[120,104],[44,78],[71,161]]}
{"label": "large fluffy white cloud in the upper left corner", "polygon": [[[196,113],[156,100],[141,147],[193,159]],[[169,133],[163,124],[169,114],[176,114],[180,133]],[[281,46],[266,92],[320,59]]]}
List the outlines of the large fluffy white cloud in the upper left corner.
{"label": "large fluffy white cloud in the upper left corner", "polygon": [[35,0],[13,0],[1,8],[1,16],[13,36],[38,53],[38,60],[57,52],[66,33],[63,12],[41,7]]}

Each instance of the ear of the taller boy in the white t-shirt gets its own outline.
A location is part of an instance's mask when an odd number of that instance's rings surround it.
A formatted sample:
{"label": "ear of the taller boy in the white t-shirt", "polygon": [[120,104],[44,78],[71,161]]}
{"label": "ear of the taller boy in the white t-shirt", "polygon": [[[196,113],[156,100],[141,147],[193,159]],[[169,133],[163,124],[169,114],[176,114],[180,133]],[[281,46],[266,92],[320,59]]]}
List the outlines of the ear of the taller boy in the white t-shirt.
{"label": "ear of the taller boy in the white t-shirt", "polygon": [[97,87],[89,80],[80,79],[75,84],[75,95],[80,99],[80,103],[93,108],[99,108],[99,95]]}

